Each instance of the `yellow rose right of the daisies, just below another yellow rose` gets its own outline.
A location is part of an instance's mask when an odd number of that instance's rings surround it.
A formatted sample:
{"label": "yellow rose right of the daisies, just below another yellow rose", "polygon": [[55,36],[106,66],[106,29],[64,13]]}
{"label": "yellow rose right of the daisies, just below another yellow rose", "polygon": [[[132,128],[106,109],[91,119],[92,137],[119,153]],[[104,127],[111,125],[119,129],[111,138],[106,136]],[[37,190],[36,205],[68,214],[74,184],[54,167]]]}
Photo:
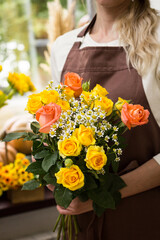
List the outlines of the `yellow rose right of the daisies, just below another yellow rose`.
{"label": "yellow rose right of the daisies, just below another yellow rose", "polygon": [[113,102],[107,97],[101,97],[101,100],[95,100],[94,106],[101,107],[107,113],[107,116],[109,116],[112,113]]}

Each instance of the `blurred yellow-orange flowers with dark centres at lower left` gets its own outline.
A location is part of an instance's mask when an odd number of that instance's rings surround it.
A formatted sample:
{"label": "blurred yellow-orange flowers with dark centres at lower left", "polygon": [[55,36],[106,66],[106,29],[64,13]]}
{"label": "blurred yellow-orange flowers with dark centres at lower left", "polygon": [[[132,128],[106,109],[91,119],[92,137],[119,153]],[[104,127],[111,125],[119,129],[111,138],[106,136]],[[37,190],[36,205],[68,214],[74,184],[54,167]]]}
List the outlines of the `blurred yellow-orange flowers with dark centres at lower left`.
{"label": "blurred yellow-orange flowers with dark centres at lower left", "polygon": [[22,153],[17,153],[14,163],[3,165],[0,162],[0,196],[9,189],[18,189],[23,184],[34,178],[26,168],[30,161]]}

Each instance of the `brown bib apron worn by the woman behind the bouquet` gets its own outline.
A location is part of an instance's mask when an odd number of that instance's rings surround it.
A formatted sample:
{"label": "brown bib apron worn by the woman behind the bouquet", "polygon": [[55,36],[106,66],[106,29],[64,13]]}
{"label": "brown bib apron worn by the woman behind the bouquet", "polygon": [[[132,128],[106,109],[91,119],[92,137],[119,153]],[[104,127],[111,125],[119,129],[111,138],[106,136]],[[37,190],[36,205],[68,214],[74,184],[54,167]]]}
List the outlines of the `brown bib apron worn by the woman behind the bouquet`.
{"label": "brown bib apron worn by the woman behind the bouquet", "polygon": [[[94,22],[95,18],[78,37],[85,36]],[[105,87],[114,102],[122,97],[149,109],[149,123],[125,134],[127,147],[119,171],[135,160],[137,165],[145,163],[160,152],[160,128],[145,96],[141,77],[131,64],[128,69],[123,47],[80,49],[80,46],[81,42],[75,42],[70,50],[61,82],[67,72],[76,72],[84,80],[91,80],[91,89],[97,83]],[[123,199],[116,210],[106,210],[100,218],[93,212],[79,215],[81,232],[78,240],[160,240],[159,219],[160,188],[154,188]]]}

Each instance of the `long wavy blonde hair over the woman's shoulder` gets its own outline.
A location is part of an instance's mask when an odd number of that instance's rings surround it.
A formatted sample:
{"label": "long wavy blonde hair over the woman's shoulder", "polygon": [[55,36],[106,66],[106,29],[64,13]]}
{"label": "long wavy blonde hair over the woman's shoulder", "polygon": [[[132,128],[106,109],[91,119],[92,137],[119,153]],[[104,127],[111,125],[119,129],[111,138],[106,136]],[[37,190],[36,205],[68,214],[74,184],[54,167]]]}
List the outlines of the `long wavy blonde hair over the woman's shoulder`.
{"label": "long wavy blonde hair over the woman's shoulder", "polygon": [[127,62],[142,76],[145,75],[155,61],[155,76],[160,79],[160,41],[158,41],[158,24],[160,17],[150,7],[149,0],[134,0],[120,16],[116,29],[120,40],[124,43]]}

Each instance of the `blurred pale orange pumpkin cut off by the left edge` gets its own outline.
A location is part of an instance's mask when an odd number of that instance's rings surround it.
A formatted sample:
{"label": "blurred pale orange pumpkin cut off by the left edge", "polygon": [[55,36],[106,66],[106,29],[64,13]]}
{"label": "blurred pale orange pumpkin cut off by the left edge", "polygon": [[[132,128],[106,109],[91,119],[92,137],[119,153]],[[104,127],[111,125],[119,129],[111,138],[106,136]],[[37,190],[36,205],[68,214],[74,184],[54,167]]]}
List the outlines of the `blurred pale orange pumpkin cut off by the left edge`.
{"label": "blurred pale orange pumpkin cut off by the left edge", "polygon": [[16,158],[16,154],[17,151],[12,146],[0,142],[0,162],[3,162],[4,164],[12,163]]}

